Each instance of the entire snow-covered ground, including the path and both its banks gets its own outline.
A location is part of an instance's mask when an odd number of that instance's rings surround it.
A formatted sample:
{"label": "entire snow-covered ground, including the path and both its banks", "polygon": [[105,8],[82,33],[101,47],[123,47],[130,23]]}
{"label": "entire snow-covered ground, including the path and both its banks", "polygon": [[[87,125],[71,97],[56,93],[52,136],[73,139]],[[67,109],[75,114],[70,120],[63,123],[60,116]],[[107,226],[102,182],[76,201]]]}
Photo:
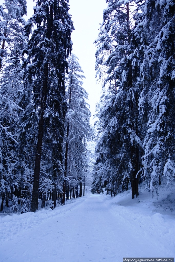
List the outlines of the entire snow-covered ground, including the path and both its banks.
{"label": "entire snow-covered ground, including the path and both its banks", "polygon": [[[172,193],[173,192],[173,193]],[[175,190],[86,195],[54,210],[0,217],[1,262],[121,262],[175,256]],[[70,201],[70,200],[69,200]],[[69,202],[67,201],[67,202]],[[173,203],[174,202],[174,203]]]}

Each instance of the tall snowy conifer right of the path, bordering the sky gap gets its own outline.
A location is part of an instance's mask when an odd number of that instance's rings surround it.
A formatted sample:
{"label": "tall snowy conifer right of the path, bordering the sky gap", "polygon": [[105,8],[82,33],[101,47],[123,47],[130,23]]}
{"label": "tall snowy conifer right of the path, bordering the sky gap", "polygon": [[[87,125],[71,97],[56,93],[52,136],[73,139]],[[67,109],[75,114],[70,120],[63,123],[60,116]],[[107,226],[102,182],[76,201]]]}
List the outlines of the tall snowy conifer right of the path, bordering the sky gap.
{"label": "tall snowy conifer right of the path, bordering the sky gap", "polygon": [[[103,164],[94,172],[101,176],[101,187],[116,193],[122,185],[132,185],[132,198],[138,195],[139,138],[138,98],[140,94],[139,43],[134,35],[130,4],[124,1],[107,1],[103,23],[96,41],[96,69],[104,79],[106,89],[102,99],[106,106],[99,109],[100,127],[104,130],[96,152]],[[108,85],[108,88],[106,88]],[[101,159],[101,160],[100,160]],[[95,185],[94,181],[94,185]],[[120,190],[120,189],[119,189]]]}

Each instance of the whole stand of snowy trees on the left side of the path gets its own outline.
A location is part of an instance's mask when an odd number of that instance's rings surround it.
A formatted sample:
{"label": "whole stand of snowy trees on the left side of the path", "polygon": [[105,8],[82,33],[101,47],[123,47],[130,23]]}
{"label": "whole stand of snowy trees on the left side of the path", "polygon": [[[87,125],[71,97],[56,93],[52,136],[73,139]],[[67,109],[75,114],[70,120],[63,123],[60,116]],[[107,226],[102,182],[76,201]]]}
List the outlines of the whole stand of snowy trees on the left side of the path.
{"label": "whole stand of snowy trees on the left side of the path", "polygon": [[9,198],[26,212],[39,198],[55,207],[83,195],[91,113],[68,10],[68,0],[38,0],[25,22],[25,0],[0,6],[1,211]]}

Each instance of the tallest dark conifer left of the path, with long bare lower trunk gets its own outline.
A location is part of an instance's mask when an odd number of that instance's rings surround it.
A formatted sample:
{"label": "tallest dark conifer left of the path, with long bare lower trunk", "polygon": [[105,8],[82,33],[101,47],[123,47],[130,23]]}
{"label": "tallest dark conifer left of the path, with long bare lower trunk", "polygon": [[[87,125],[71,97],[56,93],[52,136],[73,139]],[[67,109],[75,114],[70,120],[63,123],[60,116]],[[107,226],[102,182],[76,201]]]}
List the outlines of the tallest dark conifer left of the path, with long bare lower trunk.
{"label": "tallest dark conifer left of the path, with long bare lower trunk", "polygon": [[32,25],[36,26],[25,50],[28,55],[25,61],[27,69],[25,82],[32,84],[33,108],[39,118],[36,128],[38,136],[31,211],[38,209],[43,137],[48,134],[49,128],[56,131],[53,137],[53,133],[51,135],[50,145],[52,151],[53,148],[57,150],[52,161],[54,171],[56,170],[57,173],[62,166],[62,141],[66,113],[65,69],[67,68],[66,57],[72,48],[71,32],[73,30],[68,9],[68,1],[38,0],[34,7],[33,17],[25,25],[28,38]]}

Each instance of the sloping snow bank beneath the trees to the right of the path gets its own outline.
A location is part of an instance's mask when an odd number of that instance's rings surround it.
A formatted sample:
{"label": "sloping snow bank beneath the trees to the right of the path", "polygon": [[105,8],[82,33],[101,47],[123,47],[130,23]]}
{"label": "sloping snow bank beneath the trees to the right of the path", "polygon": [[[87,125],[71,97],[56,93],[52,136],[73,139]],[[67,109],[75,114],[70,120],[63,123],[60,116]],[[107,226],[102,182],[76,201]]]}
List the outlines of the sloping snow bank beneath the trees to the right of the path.
{"label": "sloping snow bank beneath the trees to the right of the path", "polygon": [[135,228],[140,237],[152,238],[155,242],[158,239],[162,247],[166,243],[165,249],[168,246],[169,251],[174,250],[175,187],[160,187],[158,199],[157,196],[152,198],[152,193],[145,190],[144,184],[139,187],[139,196],[135,199],[131,199],[131,190],[115,198],[106,194],[103,197],[117,219],[122,219],[128,228]]}

